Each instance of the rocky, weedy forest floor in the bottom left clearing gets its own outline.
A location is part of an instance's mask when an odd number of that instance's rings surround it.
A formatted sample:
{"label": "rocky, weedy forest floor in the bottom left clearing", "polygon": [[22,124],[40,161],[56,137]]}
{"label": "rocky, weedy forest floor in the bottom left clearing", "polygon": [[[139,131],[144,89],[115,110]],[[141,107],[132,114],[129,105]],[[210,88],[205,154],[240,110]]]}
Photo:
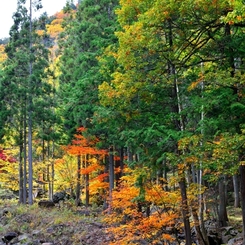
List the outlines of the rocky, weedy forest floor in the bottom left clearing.
{"label": "rocky, weedy forest floor in the bottom left clearing", "polygon": [[[8,232],[19,234],[11,244],[108,245],[113,239],[96,208],[40,208],[5,202],[0,203],[0,210],[0,237]],[[0,245],[5,244],[1,240]]]}

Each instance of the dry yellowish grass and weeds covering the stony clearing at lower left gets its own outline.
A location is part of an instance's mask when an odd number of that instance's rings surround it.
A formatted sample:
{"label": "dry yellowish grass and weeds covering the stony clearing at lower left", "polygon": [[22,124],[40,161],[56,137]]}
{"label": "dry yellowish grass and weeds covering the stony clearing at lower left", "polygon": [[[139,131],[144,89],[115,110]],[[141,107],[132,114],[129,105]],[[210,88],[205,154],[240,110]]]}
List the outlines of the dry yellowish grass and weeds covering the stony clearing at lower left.
{"label": "dry yellowish grass and weeds covering the stony clearing at lower left", "polygon": [[76,245],[90,232],[99,233],[93,224],[100,223],[100,218],[82,215],[75,207],[39,208],[37,204],[29,206],[7,201],[0,203],[0,210],[0,237],[15,231],[29,234],[33,239],[35,236],[39,241]]}

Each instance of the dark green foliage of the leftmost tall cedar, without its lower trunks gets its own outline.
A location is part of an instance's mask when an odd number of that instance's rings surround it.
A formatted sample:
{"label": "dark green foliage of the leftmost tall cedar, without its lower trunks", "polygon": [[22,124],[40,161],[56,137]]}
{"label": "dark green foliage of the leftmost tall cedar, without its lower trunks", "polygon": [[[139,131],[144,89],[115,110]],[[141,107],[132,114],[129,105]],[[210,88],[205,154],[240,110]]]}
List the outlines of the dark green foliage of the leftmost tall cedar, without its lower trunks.
{"label": "dark green foliage of the leftmost tall cedar, without its lower trunks", "polygon": [[[42,44],[42,37],[36,33],[38,22],[33,23],[32,42],[30,50],[29,16],[27,9],[18,4],[17,12],[13,15],[14,25],[10,30],[10,41],[6,45],[7,59],[4,62],[4,75],[1,83],[5,86],[5,101],[11,108],[13,116],[12,126],[20,127],[19,122],[27,108],[27,100],[31,96],[33,105],[34,124],[42,118],[45,120],[47,113],[44,111],[53,102],[50,101],[51,85],[45,80],[48,67],[48,49]],[[36,28],[36,29],[35,29]],[[29,64],[33,64],[33,73],[29,74]],[[31,80],[31,83],[29,81]],[[47,110],[46,110],[47,111]]]}

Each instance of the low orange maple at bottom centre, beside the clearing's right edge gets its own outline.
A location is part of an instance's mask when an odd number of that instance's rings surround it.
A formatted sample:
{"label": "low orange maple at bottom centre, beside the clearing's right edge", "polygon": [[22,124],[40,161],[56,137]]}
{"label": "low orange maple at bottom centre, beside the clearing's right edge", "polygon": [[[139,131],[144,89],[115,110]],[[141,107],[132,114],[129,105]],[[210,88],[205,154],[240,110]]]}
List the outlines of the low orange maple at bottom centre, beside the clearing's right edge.
{"label": "low orange maple at bottom centre, beside the clearing's right edge", "polygon": [[[159,241],[175,240],[170,231],[175,229],[180,215],[180,195],[165,191],[149,176],[146,176],[143,187],[137,186],[142,171],[144,174],[150,172],[147,168],[125,168],[125,175],[112,193],[111,208],[105,216],[105,222],[110,224],[107,231],[115,238],[111,245],[138,244],[141,240],[158,244]],[[144,198],[139,198],[142,188]]]}

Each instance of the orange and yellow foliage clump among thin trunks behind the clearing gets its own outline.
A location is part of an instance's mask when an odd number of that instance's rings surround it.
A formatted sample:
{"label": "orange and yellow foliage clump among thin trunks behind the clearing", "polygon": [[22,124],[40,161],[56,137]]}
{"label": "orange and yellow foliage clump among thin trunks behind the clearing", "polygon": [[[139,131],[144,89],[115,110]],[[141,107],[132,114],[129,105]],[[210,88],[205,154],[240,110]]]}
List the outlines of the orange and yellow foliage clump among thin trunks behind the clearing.
{"label": "orange and yellow foliage clump among thin trunks behind the clearing", "polygon": [[108,153],[106,150],[97,149],[95,144],[99,140],[96,137],[85,135],[86,131],[84,127],[77,129],[72,144],[63,147],[66,155],[56,162],[55,169],[58,170],[57,175],[65,182],[65,186],[74,187],[77,184],[79,172],[86,176],[80,179],[80,184],[85,187],[84,192],[89,190],[92,199],[101,201],[105,198],[109,188],[108,182],[105,182],[108,174],[101,174],[104,171],[101,161]]}

